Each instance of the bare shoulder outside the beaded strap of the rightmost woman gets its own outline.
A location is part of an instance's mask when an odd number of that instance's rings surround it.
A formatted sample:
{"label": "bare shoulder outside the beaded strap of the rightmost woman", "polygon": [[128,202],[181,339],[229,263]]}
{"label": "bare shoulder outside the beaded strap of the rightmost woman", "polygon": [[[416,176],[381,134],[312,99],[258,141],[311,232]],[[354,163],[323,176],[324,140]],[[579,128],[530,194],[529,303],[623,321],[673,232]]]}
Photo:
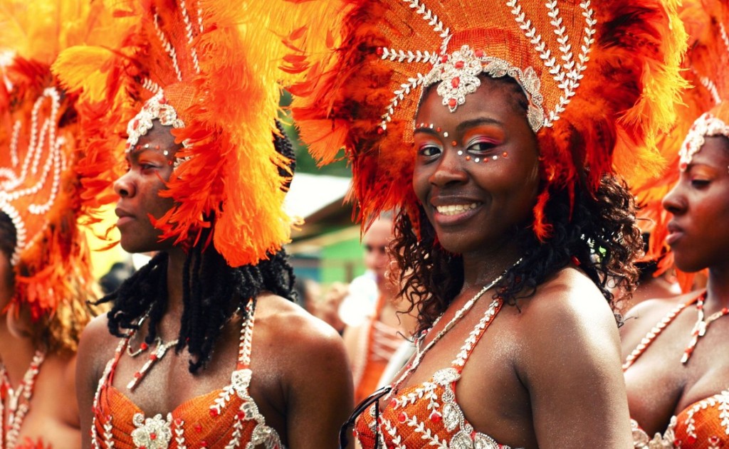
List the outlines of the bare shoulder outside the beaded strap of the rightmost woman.
{"label": "bare shoulder outside the beaded strap of the rightmost woman", "polygon": [[646,300],[627,311],[623,319],[623,327],[620,328],[623,355],[629,354],[636,348],[650,329],[655,327],[668,313],[679,305],[685,304],[696,294],[696,292],[690,292],[677,297]]}

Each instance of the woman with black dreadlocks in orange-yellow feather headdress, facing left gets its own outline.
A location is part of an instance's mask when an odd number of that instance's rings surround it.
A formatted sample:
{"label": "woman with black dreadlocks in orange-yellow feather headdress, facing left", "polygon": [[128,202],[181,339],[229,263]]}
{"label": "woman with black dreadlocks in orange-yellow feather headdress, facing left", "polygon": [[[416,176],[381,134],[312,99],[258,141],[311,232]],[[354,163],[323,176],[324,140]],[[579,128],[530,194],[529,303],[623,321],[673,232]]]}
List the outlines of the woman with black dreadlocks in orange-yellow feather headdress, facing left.
{"label": "woman with black dreadlocks in orange-yellow feather headdress, facing left", "polygon": [[278,20],[270,2],[119,7],[120,48],[72,48],[54,66],[87,106],[89,195],[108,198],[94,189],[109,187],[128,123],[113,183],[120,243],[157,251],[82,336],[84,447],[335,448],[348,362],[339,335],[290,301],[290,155],[273,120],[278,82],[300,69],[276,55],[302,44],[305,12],[326,10],[281,5]]}

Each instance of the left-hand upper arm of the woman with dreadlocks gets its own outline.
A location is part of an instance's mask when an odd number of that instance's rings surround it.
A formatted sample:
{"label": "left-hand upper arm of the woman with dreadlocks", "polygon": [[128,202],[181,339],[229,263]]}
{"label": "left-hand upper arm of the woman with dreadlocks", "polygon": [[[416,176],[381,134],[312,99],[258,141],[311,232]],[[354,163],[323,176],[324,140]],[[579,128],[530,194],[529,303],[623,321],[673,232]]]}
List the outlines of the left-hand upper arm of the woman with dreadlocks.
{"label": "left-hand upper arm of the woman with dreadlocks", "polygon": [[106,362],[105,351],[100,351],[109,341],[109,330],[106,327],[106,315],[97,316],[91,321],[81,335],[76,359],[76,397],[79,407],[82,448],[91,447],[89,430],[93,419],[93,398],[101,378],[102,364]]}

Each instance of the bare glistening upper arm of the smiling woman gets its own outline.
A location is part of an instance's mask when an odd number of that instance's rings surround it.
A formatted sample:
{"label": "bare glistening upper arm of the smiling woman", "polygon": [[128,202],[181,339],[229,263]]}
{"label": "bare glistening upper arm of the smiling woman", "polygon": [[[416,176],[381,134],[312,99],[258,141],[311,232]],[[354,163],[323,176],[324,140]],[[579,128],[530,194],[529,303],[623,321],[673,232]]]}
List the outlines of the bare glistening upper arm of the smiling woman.
{"label": "bare glistening upper arm of the smiling woman", "polygon": [[522,374],[539,448],[631,448],[612,311],[599,294],[569,295],[540,297],[522,326]]}

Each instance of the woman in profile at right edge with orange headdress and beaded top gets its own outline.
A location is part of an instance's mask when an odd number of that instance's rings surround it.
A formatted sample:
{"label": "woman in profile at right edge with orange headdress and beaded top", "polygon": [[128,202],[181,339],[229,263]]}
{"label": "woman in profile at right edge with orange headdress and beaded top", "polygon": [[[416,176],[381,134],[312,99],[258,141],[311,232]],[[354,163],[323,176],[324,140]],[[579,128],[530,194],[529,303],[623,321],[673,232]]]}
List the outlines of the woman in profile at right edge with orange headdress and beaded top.
{"label": "woman in profile at right edge with orange headdress and beaded top", "polygon": [[666,268],[675,265],[685,290],[700,270],[708,282],[628,313],[636,319],[622,329],[623,367],[639,449],[729,447],[729,7],[686,1],[681,17],[691,36],[689,107],[663,142],[671,165],[642,192],[649,210],[663,208],[652,247],[670,247]]}

